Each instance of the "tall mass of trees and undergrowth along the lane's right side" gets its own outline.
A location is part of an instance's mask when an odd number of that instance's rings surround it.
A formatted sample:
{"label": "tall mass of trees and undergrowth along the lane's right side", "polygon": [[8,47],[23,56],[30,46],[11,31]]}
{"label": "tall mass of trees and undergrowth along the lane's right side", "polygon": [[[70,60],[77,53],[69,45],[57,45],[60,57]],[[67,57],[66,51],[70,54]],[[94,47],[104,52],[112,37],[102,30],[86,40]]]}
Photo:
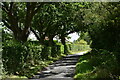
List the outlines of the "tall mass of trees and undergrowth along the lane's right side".
{"label": "tall mass of trees and undergrowth along the lane's right side", "polygon": [[[84,10],[84,22],[87,26],[85,31],[89,33],[92,40],[92,51],[83,55],[79,63],[86,60],[88,62],[84,65],[90,64],[94,69],[84,73],[77,69],[75,78],[78,78],[78,80],[89,80],[90,78],[93,78],[92,80],[102,80],[102,78],[104,80],[119,80],[119,6],[119,2],[92,3],[89,9]],[[82,66],[83,64],[79,64],[77,68]]]}

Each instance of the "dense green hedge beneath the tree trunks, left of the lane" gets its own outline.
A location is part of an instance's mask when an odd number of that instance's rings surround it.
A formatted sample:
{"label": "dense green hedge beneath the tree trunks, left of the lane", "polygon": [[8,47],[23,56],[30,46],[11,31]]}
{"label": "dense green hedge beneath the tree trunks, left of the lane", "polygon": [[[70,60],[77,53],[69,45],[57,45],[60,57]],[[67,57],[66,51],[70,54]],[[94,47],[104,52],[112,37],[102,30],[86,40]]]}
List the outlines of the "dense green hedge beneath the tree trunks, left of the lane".
{"label": "dense green hedge beneath the tree trunks, left of the lane", "polygon": [[[33,42],[21,44],[15,41],[4,42],[3,44],[3,65],[7,74],[25,75],[29,77],[28,70],[31,67],[45,66],[45,61],[51,57],[60,56],[63,52],[63,45],[45,46]],[[28,70],[27,70],[28,69]]]}

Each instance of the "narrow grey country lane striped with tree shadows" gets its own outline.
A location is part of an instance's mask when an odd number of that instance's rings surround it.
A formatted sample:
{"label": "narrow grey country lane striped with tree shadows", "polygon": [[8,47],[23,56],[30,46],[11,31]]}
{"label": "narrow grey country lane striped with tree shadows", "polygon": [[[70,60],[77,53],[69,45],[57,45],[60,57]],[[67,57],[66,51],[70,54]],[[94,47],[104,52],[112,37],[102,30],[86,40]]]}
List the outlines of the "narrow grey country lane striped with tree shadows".
{"label": "narrow grey country lane striped with tree shadows", "polygon": [[78,62],[80,55],[85,52],[80,52],[72,55],[67,55],[62,59],[54,62],[46,67],[47,70],[36,74],[32,79],[39,80],[73,80],[75,73],[75,65]]}

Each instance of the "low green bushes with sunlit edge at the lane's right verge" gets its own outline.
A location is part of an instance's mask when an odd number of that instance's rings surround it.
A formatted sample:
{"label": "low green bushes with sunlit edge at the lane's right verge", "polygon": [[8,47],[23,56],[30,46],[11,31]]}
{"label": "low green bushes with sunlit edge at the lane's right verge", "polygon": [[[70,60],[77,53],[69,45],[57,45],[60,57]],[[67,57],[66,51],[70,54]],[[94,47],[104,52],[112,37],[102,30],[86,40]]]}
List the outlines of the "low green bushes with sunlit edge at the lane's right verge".
{"label": "low green bushes with sunlit edge at the lane's right verge", "polygon": [[119,64],[113,52],[107,50],[92,50],[81,56],[76,65],[76,75],[78,80],[116,80],[119,78]]}

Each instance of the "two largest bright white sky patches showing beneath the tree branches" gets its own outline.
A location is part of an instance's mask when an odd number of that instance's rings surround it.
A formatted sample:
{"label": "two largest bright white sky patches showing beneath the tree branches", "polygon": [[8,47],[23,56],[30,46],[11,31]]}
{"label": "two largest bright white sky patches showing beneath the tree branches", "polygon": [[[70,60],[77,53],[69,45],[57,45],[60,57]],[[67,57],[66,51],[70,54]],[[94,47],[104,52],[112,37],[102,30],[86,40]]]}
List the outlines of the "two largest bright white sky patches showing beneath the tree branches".
{"label": "two largest bright white sky patches showing beneath the tree branches", "polygon": [[[73,42],[74,40],[77,40],[79,38],[78,34],[77,33],[72,33],[72,34],[69,34],[68,35],[69,37],[71,37],[68,41],[70,42]],[[33,33],[31,33],[29,35],[29,39],[32,39],[32,40],[37,40],[35,35]]]}

